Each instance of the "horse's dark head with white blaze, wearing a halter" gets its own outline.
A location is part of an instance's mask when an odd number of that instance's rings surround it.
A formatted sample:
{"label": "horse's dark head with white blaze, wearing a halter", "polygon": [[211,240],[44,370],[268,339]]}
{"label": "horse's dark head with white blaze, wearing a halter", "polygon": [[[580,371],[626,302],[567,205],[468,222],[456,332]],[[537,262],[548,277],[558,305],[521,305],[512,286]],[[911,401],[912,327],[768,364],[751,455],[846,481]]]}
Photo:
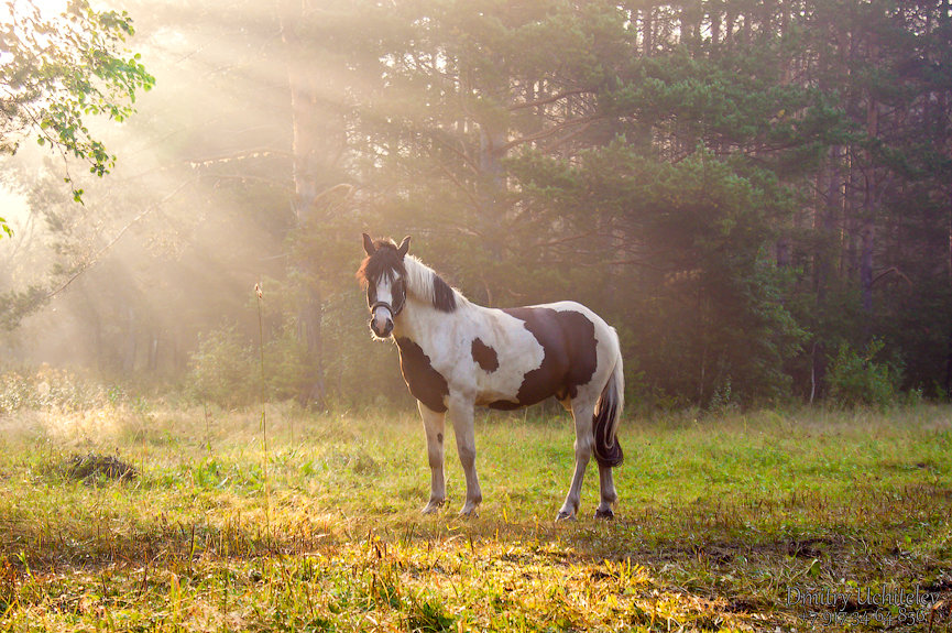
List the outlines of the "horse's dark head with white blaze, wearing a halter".
{"label": "horse's dark head with white blaze, wearing a halter", "polygon": [[393,321],[406,305],[406,266],[404,257],[409,249],[409,236],[400,245],[392,240],[371,240],[363,233],[366,259],[360,264],[357,277],[366,288],[370,308],[370,330],[377,338],[393,331]]}

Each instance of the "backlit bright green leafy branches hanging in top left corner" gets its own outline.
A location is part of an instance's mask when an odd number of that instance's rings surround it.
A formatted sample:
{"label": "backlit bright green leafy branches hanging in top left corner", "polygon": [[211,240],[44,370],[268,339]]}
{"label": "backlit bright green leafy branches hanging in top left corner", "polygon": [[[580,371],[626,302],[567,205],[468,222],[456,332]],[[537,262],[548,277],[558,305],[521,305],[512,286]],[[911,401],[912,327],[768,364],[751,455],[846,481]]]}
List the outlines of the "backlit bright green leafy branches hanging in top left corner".
{"label": "backlit bright green leafy branches hanging in top left corner", "polygon": [[[72,0],[64,13],[50,15],[33,2],[10,2],[0,21],[4,62],[0,65],[0,152],[14,153],[22,138],[37,134],[40,145],[65,160],[72,155],[102,176],[116,156],[92,137],[88,117],[122,122],[133,112],[136,92],[155,79],[138,54],[125,51],[133,35],[128,13],[96,11],[87,0]],[[65,177],[76,201],[83,189]],[[0,226],[6,226],[0,222]]]}

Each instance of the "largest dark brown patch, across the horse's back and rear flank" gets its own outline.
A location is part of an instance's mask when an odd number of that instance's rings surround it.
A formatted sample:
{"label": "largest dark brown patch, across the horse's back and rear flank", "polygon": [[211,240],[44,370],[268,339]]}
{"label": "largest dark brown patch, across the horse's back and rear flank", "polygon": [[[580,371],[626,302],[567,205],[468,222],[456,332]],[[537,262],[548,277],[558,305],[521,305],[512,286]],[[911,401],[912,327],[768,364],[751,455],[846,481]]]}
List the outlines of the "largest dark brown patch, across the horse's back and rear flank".
{"label": "largest dark brown patch, across the horse's back and rear flank", "polygon": [[550,395],[560,401],[576,397],[578,388],[592,380],[598,365],[595,324],[575,310],[521,307],[503,312],[525,324],[545,356],[538,369],[523,376],[515,402],[496,401],[490,407],[513,410]]}

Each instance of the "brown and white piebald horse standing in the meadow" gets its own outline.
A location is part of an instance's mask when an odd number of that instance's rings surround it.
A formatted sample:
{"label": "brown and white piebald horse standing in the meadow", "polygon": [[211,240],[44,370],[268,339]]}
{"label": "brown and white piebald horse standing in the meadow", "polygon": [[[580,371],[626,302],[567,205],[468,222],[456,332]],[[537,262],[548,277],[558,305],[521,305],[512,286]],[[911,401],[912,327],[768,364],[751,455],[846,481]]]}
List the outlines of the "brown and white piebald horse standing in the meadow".
{"label": "brown and white piebald horse standing in the meadow", "polygon": [[622,354],[615,330],[573,302],[488,308],[470,303],[433,269],[397,245],[363,234],[366,259],[357,275],[366,288],[374,338],[392,338],[400,367],[417,400],[431,473],[424,513],[446,502],[444,430],[448,413],[466,472],[466,503],[482,502],[475,471],[473,407],[513,410],[555,396],[576,425],[576,470],[557,520],[576,517],[582,478],[594,454],[601,502],[595,517],[612,519],[617,500],[612,468],[622,462],[617,440],[624,405]]}

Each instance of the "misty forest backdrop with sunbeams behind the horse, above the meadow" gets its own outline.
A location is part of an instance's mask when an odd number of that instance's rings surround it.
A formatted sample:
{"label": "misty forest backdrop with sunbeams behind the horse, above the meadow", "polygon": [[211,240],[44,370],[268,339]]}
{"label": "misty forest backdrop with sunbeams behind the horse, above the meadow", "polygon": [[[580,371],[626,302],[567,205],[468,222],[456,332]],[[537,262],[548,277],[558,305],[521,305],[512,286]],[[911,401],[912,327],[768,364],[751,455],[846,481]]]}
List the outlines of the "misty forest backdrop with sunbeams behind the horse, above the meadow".
{"label": "misty forest backdrop with sunbeams behind the horse, above the meadow", "polygon": [[265,279],[275,393],[403,397],[351,274],[380,227],[480,303],[605,314],[632,402],[813,401],[843,353],[952,384],[946,0],[80,2],[42,64],[11,7],[4,146],[113,173],[4,160],[7,361],[182,380]]}

